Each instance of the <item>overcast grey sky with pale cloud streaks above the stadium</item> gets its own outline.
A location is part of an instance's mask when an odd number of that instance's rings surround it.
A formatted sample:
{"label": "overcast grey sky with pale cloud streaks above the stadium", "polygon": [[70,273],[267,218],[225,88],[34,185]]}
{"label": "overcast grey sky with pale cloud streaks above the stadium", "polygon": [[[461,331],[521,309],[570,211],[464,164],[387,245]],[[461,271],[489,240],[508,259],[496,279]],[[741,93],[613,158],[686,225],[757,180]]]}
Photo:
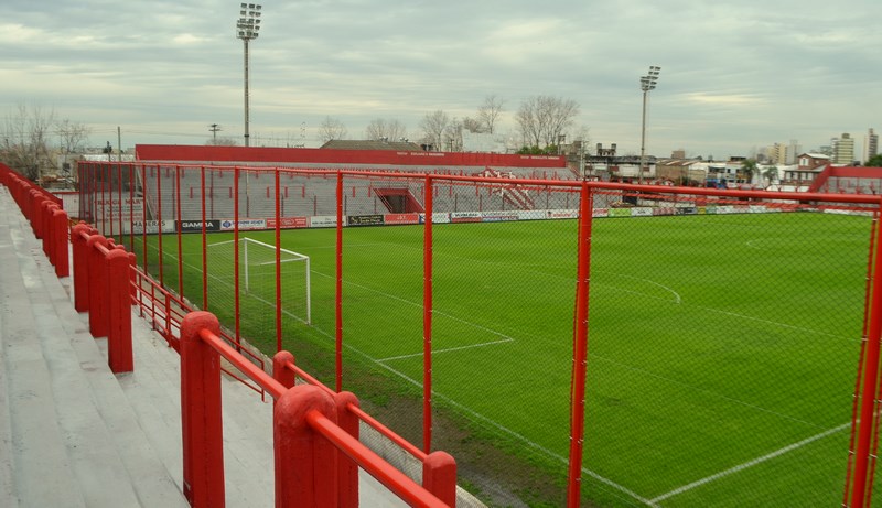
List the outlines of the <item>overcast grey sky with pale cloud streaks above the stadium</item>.
{"label": "overcast grey sky with pale cloud streaks above the stadium", "polygon": [[[92,129],[92,142],[204,144],[209,125],[241,143],[238,1],[3,0],[0,112],[20,105]],[[325,117],[363,139],[397,119],[411,140],[429,112],[474,117],[503,99],[580,105],[592,145],[750,155],[882,130],[882,1],[266,0],[250,44],[251,144],[318,147]],[[571,138],[570,138],[571,139]]]}

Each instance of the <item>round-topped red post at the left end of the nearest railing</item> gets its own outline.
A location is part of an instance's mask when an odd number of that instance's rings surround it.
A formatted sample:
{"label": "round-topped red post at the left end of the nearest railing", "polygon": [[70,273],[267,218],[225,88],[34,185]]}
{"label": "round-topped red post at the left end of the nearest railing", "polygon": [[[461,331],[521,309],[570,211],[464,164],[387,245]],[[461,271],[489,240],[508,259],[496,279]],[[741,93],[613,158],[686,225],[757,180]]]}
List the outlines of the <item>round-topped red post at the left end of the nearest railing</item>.
{"label": "round-topped red post at the left end of the nearest railing", "polygon": [[191,312],[181,323],[184,496],[194,507],[223,508],[226,495],[220,361],[218,353],[200,336],[203,329],[220,333],[214,314]]}

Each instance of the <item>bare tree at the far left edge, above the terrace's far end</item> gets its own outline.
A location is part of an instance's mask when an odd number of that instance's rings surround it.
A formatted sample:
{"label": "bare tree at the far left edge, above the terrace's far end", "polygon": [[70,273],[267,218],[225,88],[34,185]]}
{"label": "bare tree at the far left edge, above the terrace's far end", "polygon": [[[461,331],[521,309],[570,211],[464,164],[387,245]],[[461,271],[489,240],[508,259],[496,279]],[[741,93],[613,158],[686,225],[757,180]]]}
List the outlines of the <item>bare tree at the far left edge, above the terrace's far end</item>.
{"label": "bare tree at the far left edge, above the terrace's far end", "polygon": [[40,107],[28,109],[23,104],[7,117],[3,125],[3,160],[32,181],[43,170],[55,167],[49,150],[50,129],[55,123],[55,112],[44,112]]}

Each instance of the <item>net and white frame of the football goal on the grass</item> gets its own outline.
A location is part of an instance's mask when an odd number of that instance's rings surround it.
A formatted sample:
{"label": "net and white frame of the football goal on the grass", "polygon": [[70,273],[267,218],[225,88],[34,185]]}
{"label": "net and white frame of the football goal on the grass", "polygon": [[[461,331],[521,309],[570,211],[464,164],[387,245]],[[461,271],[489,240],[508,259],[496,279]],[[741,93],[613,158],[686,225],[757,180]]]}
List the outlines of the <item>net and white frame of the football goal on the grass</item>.
{"label": "net and white frame of the football goal on the grass", "polygon": [[[233,294],[236,274],[234,251],[237,247],[236,242],[234,240],[219,241],[209,244],[207,247],[209,278],[219,283],[209,284],[209,287],[227,287],[230,290],[229,293]],[[238,253],[239,295],[243,301],[240,313],[244,320],[267,318],[272,321],[277,304],[276,285],[278,280],[282,314],[308,325],[312,323],[309,256],[288,249],[277,249],[273,245],[247,237],[239,238]],[[209,295],[209,300],[213,296],[219,295]]]}

